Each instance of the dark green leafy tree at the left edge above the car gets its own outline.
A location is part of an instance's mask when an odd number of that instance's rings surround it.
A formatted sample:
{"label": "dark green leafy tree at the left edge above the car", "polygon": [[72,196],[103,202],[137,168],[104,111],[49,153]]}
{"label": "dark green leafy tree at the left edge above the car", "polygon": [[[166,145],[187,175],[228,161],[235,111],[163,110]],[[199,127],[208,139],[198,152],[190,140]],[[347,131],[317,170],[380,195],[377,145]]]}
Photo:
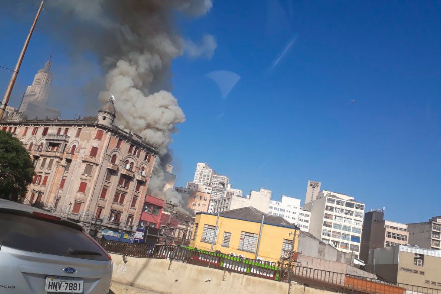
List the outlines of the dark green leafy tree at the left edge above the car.
{"label": "dark green leafy tree at the left edge above the car", "polygon": [[17,138],[0,131],[0,198],[17,201],[32,182],[34,166]]}

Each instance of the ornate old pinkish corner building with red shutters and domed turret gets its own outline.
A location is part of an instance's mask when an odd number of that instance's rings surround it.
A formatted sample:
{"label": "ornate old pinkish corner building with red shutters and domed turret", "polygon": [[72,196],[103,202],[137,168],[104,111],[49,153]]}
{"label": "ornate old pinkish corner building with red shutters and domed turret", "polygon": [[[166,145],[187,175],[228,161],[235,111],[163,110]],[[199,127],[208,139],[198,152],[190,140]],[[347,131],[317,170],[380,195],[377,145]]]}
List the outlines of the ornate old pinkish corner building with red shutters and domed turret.
{"label": "ornate old pinkish corner building with red shutters and domed turret", "polygon": [[23,143],[35,166],[23,202],[76,220],[94,236],[132,238],[158,151],[114,119],[112,100],[98,117],[2,119],[0,129]]}

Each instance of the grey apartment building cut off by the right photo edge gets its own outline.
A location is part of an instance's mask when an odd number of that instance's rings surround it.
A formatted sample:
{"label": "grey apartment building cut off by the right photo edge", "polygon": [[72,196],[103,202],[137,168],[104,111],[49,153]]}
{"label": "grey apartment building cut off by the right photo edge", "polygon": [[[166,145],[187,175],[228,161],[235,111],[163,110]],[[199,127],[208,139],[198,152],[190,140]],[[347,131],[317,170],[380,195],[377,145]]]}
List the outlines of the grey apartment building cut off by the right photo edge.
{"label": "grey apartment building cut off by the right photo edge", "polygon": [[441,216],[428,222],[407,224],[409,244],[422,248],[441,250]]}

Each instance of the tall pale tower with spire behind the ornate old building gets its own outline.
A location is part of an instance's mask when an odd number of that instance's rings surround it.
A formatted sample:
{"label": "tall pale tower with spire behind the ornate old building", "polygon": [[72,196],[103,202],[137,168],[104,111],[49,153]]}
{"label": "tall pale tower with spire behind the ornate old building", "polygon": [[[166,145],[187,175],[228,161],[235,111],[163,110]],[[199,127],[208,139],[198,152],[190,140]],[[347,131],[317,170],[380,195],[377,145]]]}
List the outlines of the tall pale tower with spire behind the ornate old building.
{"label": "tall pale tower with spire behind the ornate old building", "polygon": [[[53,52],[52,52],[53,53]],[[32,85],[26,88],[23,101],[20,104],[19,112],[28,119],[56,118],[60,116],[60,110],[48,106],[49,87],[52,83],[53,74],[50,71],[52,66],[52,54],[46,61],[44,68],[40,69],[34,77]]]}

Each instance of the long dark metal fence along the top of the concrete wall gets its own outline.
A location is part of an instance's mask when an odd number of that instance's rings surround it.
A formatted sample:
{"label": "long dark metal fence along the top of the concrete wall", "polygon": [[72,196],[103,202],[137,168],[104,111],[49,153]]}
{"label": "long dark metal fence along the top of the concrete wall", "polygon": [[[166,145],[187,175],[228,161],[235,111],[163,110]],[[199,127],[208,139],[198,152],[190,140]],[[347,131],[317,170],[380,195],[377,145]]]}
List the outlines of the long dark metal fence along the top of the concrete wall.
{"label": "long dark metal fence along the top of the concrete wall", "polygon": [[343,293],[361,294],[441,294],[441,290],[401,283],[389,283],[344,273],[312,269],[209,252],[184,246],[132,244],[97,239],[109,252],[138,258],[161,258],[219,268],[261,278],[297,282]]}

